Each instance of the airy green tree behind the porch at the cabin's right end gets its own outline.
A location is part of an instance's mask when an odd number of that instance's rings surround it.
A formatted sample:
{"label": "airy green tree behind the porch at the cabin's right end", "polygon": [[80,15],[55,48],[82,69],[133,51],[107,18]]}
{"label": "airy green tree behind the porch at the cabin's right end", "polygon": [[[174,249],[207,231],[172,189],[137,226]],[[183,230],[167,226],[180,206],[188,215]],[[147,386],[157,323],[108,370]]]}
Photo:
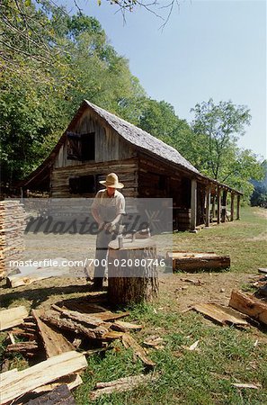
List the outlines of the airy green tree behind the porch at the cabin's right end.
{"label": "airy green tree behind the porch at the cabin's right end", "polygon": [[203,174],[242,191],[248,201],[254,190],[250,179],[263,177],[256,155],[237,147],[237,139],[251,120],[249,110],[231,101],[215,104],[210,99],[196,104],[191,111],[195,113],[191,123],[191,163]]}

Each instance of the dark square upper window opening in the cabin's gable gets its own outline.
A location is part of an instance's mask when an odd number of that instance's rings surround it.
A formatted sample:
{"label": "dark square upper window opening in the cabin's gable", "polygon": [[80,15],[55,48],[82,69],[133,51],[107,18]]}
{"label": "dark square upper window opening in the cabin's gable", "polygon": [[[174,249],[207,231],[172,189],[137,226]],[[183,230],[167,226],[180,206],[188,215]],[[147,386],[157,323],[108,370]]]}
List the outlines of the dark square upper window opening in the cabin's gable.
{"label": "dark square upper window opening in the cabin's gable", "polygon": [[95,159],[95,133],[67,132],[67,159],[94,160]]}

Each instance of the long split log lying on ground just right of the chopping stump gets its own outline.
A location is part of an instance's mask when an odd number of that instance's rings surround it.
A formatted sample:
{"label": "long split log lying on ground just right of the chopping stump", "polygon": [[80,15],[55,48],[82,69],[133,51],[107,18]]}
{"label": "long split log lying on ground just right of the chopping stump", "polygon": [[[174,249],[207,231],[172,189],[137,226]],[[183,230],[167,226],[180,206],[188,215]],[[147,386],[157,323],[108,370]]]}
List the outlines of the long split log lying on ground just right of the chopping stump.
{"label": "long split log lying on ground just right of the chopping stump", "polygon": [[166,260],[173,261],[173,270],[192,273],[199,270],[221,270],[230,267],[229,256],[214,252],[167,252]]}

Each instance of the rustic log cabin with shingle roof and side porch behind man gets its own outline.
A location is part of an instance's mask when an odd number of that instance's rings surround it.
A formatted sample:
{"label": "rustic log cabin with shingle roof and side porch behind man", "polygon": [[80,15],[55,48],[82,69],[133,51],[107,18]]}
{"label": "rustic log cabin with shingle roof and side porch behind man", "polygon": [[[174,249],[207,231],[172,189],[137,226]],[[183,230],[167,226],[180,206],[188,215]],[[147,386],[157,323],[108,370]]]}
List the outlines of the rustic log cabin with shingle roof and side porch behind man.
{"label": "rustic log cabin with shingle roof and side porch behind man", "polygon": [[174,229],[209,227],[216,204],[216,221],[226,221],[227,193],[229,220],[240,217],[242,193],[200,174],[175,148],[86,100],[49,157],[22,182],[22,195],[93,197],[111,172],[125,184],[125,197],[172,198]]}

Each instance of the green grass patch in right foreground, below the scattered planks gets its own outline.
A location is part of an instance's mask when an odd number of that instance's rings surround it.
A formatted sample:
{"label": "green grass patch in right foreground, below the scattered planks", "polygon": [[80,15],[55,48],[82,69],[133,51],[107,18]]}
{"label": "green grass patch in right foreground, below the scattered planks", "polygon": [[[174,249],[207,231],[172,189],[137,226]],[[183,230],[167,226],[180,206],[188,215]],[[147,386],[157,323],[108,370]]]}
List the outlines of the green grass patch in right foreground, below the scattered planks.
{"label": "green grass patch in right foreground, below the scattered planks", "polygon": [[[131,310],[130,320],[143,322],[148,327],[136,334],[140,343],[147,334],[164,338],[164,349],[149,350],[160,378],[133,392],[102,397],[96,404],[267,403],[266,347],[254,347],[252,330],[222,328],[205,322],[196,313],[155,313],[149,305]],[[196,340],[200,340],[199,352],[183,348]],[[141,363],[133,363],[130,351],[120,342],[115,345],[104,358],[89,357],[85,384],[76,391],[78,404],[90,403],[88,393],[94,383],[142,372]],[[231,385],[237,382],[261,383],[263,389],[239,390]]]}

